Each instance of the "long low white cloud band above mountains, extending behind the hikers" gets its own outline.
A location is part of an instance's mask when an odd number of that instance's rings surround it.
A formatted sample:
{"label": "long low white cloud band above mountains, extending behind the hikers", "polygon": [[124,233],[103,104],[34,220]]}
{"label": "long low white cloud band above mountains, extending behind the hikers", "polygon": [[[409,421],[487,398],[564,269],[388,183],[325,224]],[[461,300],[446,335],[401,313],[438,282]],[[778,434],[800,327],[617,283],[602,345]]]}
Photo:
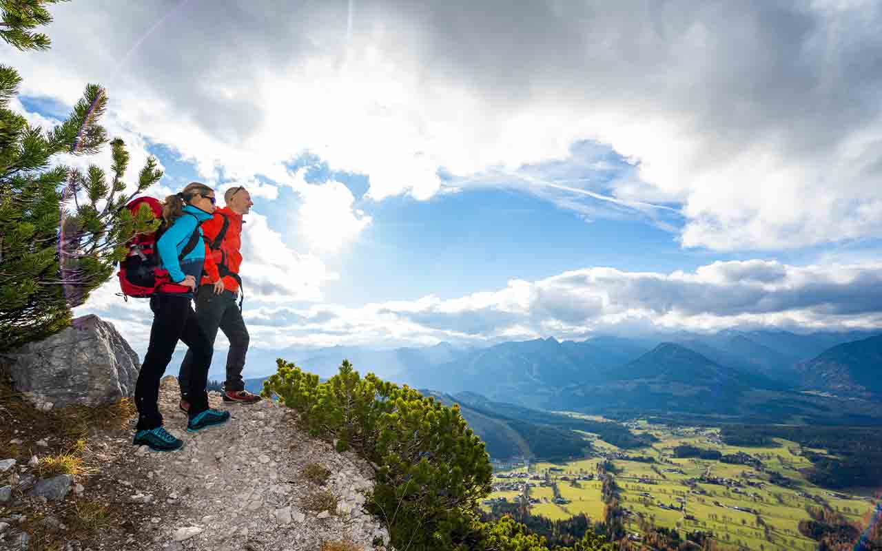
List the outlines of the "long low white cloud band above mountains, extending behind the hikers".
{"label": "long low white cloud band above mountains, extending behind the hikers", "polygon": [[[123,302],[116,291],[116,282],[108,282],[77,314],[107,318],[143,354],[153,316],[146,301]],[[750,260],[694,272],[587,268],[537,281],[512,279],[505,288],[454,299],[425,296],[359,308],[297,308],[264,299],[250,302],[245,321],[252,346],[276,350],[585,339],[598,332],[869,329],[882,327],[879,312],[882,264]],[[217,350],[225,346],[219,337]]]}

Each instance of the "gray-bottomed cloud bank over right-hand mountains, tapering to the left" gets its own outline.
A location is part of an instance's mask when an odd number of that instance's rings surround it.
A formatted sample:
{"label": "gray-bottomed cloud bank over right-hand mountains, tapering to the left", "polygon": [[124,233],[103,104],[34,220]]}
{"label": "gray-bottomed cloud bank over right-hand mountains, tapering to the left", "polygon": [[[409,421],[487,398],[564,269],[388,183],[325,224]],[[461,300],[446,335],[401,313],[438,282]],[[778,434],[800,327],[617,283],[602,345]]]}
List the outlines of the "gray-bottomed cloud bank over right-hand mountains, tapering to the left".
{"label": "gray-bottomed cloud bank over right-hand mountains, tapering to the left", "polygon": [[422,299],[382,311],[431,330],[497,339],[512,334],[587,336],[622,327],[842,329],[882,323],[879,264],[790,266],[717,262],[695,272],[588,268],[535,282],[512,280],[494,293]]}

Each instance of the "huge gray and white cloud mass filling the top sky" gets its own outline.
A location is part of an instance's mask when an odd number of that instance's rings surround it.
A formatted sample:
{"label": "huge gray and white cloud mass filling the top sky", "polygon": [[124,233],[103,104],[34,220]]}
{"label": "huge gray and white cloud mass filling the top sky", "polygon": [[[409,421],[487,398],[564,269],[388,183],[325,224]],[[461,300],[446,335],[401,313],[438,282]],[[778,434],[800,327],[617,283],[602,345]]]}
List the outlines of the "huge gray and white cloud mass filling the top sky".
{"label": "huge gray and white cloud mass filling the top sky", "polygon": [[[687,247],[882,234],[878,3],[71,3],[23,92],[111,111],[209,181],[285,178],[309,151],[367,197],[432,197],[568,159],[632,160],[622,199],[675,198]],[[235,40],[230,40],[235,37]],[[455,180],[453,185],[457,185]],[[596,190],[595,190],[596,191]]]}

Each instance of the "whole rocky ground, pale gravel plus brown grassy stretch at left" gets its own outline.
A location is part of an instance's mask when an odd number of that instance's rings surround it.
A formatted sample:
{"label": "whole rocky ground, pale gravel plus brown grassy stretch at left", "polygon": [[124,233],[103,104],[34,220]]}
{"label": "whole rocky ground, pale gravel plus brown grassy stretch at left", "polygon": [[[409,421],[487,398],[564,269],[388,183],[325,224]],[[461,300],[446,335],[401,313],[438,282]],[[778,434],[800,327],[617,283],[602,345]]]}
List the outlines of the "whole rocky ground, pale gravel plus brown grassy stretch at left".
{"label": "whole rocky ground, pale gravel plus brown grassy stretch at left", "polygon": [[[41,524],[61,532],[64,551],[320,551],[331,542],[347,542],[333,547],[341,549],[389,548],[388,532],[362,508],[363,493],[372,486],[372,470],[362,458],[305,435],[295,427],[293,410],[266,400],[230,405],[219,393],[211,393],[212,406],[227,409],[230,421],[191,434],[178,398],[175,377],[166,376],[160,408],[165,427],[183,439],[183,450],[136,448],[131,431],[95,434],[86,458],[99,468],[58,482],[70,486],[61,491],[64,498],[54,503],[16,489],[21,500],[44,509]],[[325,467],[326,480],[304,475],[307,467],[323,471],[317,464]],[[68,526],[58,511],[78,508],[85,499],[112,506],[115,520],[97,542],[66,540]],[[38,548],[33,537],[28,542],[17,531],[26,520],[0,518],[0,549]]]}

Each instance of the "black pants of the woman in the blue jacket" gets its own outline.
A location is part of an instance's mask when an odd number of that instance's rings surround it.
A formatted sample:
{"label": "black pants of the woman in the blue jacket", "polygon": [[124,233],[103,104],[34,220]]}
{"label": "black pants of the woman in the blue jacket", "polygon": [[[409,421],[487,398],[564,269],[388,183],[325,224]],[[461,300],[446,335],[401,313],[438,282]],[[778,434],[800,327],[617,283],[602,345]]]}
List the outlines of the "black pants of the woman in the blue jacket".
{"label": "black pants of the woman in the blue jacket", "polygon": [[159,427],[162,415],[157,405],[160,394],[160,379],[165,373],[178,340],[190,347],[187,354],[193,354],[187,386],[187,401],[190,402],[190,415],[208,409],[208,366],[212,363],[213,345],[202,331],[196,314],[190,305],[190,298],[173,294],[157,294],[150,299],[153,310],[153,327],[150,328],[150,344],[144,363],[138,373],[135,385],[135,405],[138,406],[137,430]]}

